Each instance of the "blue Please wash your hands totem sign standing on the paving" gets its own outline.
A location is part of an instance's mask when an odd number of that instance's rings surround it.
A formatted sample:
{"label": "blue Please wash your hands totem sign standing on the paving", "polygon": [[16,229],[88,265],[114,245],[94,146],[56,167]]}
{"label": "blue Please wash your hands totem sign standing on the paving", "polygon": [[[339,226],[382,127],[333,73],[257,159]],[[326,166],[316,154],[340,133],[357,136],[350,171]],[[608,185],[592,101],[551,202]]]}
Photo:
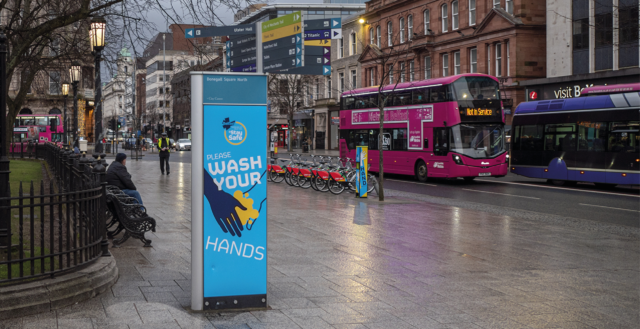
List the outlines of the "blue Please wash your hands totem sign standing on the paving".
{"label": "blue Please wash your hands totem sign standing on the paving", "polygon": [[193,310],[267,307],[267,77],[191,73]]}

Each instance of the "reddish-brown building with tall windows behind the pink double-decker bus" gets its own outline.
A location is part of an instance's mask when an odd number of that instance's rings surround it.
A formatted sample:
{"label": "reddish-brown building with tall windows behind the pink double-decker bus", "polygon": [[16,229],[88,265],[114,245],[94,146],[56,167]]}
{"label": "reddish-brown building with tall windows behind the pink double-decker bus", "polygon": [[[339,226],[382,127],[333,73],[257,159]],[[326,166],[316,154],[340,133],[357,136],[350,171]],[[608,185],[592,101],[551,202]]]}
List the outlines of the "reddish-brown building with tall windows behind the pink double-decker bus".
{"label": "reddish-brown building with tall windows behind the pink double-decker bus", "polygon": [[[421,80],[461,73],[498,77],[511,110],[525,101],[519,82],[546,74],[545,2],[536,0],[371,0],[360,57],[363,86],[379,84],[380,54],[391,52],[393,77]],[[387,62],[387,63],[391,63]],[[388,70],[389,67],[385,67]],[[387,78],[384,83],[389,83]]]}

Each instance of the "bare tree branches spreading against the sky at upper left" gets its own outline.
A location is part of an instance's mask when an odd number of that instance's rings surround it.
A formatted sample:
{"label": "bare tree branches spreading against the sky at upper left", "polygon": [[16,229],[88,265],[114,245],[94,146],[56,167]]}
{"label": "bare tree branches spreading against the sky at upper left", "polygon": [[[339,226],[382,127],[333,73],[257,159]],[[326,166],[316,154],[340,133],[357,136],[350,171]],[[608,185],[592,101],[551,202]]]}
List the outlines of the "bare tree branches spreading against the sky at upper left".
{"label": "bare tree branches spreading against the sky at upper left", "polygon": [[147,19],[150,11],[162,12],[167,21],[213,25],[222,22],[214,12],[216,9],[239,10],[251,3],[252,0],[0,0],[2,29],[9,48],[7,86],[13,83],[17,87],[7,99],[9,129],[3,141],[10,140],[16,115],[32,86],[46,86],[49,79],[43,77],[49,70],[57,68],[64,81],[72,61],[91,66],[88,38],[91,17],[100,15],[107,19],[103,61],[113,64],[122,47],[131,47],[136,53],[136,48],[147,44],[147,34],[156,30]]}

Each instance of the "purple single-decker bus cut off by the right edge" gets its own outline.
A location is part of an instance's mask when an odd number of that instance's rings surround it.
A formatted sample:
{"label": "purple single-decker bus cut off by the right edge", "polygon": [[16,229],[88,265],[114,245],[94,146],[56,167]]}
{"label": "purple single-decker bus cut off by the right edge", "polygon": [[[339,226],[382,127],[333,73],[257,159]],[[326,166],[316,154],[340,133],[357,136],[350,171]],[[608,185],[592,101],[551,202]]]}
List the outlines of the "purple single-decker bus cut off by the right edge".
{"label": "purple single-decker bus cut off by the right edge", "polygon": [[589,87],[582,95],[518,105],[511,172],[556,185],[640,184],[640,84]]}

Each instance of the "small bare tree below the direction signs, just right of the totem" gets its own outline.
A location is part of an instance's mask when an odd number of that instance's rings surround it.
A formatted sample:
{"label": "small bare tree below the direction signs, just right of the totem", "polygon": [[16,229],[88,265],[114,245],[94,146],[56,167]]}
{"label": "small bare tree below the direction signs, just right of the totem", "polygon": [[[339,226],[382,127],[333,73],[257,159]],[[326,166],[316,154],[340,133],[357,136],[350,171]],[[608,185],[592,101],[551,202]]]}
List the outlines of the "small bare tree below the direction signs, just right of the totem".
{"label": "small bare tree below the direction signs, just right of the totem", "polygon": [[[287,115],[289,130],[293,127],[293,114],[303,109],[305,90],[312,85],[315,76],[300,74],[270,74],[267,94],[280,114]],[[289,133],[288,150],[291,151],[291,133]]]}

